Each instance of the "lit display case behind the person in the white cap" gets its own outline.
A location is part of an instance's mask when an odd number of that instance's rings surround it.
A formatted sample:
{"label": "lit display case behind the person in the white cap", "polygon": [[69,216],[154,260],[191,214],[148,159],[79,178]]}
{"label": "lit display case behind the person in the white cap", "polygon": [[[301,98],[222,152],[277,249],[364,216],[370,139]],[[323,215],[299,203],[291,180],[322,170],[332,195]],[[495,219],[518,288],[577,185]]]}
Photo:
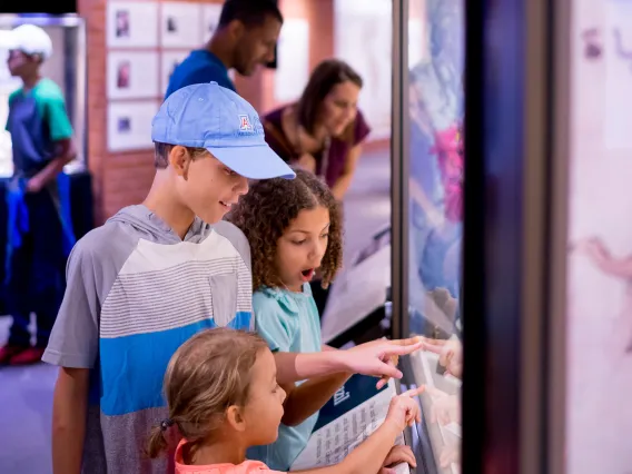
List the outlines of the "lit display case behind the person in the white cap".
{"label": "lit display case behind the person in the white cap", "polygon": [[[29,17],[0,14],[0,34],[23,22],[43,28],[52,41],[52,56],[42,65],[42,76],[52,79],[63,91],[68,116],[75,131],[77,159],[66,168],[67,172],[85,169],[85,103],[86,59],[85,30],[81,19],[63,17]],[[13,174],[11,136],[4,129],[9,115],[9,96],[21,87],[19,78],[11,77],[7,68],[9,51],[0,47],[0,178]]]}

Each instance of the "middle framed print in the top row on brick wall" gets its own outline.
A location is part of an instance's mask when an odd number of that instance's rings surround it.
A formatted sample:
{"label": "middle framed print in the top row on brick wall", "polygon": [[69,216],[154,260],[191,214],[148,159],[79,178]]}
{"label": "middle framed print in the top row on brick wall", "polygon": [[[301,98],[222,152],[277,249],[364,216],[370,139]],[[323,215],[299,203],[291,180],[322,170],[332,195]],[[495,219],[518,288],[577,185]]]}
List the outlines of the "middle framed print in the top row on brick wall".
{"label": "middle framed print in the top row on brick wall", "polygon": [[160,14],[162,48],[199,48],[201,45],[199,3],[165,2]]}

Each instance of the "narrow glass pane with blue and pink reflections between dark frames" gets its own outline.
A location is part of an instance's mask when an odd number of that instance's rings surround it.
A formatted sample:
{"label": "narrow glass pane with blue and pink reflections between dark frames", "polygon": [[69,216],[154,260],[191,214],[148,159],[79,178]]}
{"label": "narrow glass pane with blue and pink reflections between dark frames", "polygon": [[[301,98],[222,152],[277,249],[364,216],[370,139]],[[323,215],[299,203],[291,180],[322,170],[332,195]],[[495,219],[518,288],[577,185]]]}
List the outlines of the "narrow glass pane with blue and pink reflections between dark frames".
{"label": "narrow glass pane with blue and pink reflections between dark frames", "polygon": [[412,365],[447,474],[461,471],[463,0],[411,0],[409,16],[409,328],[428,342]]}

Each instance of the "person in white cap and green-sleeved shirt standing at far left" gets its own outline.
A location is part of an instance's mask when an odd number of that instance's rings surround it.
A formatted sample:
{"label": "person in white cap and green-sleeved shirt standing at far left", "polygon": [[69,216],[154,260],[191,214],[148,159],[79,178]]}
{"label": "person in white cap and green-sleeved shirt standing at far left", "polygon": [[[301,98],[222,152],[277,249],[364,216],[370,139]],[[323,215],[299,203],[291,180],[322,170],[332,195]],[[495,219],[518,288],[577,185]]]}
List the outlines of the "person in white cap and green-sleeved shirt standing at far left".
{"label": "person in white cap and green-sleeved shirt standing at far left", "polygon": [[[58,176],[76,154],[63,95],[40,71],[52,55],[50,37],[22,24],[0,37],[0,47],[9,50],[11,76],[22,80],[9,97],[6,125],[13,155],[6,195],[7,306],[13,323],[0,348],[0,364],[19,365],[41,359],[63,297],[66,258],[75,241],[59,204]],[[31,312],[37,315],[34,347],[28,330]]]}

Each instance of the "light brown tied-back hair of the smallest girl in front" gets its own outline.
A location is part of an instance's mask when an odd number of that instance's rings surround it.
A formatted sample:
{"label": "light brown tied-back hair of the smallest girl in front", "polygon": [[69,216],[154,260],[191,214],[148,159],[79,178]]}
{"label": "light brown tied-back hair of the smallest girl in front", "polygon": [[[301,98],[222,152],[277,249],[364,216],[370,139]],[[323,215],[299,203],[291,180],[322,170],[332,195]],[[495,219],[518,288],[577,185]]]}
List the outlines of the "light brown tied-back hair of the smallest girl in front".
{"label": "light brown tied-back hair of the smallest girl in front", "polygon": [[267,347],[254,333],[227,328],[203,330],[182,344],[165,374],[169,418],[152,428],[148,456],[167,450],[165,432],[171,425],[187,440],[189,453],[195,452],[219,427],[229,406],[247,403],[250,369]]}

